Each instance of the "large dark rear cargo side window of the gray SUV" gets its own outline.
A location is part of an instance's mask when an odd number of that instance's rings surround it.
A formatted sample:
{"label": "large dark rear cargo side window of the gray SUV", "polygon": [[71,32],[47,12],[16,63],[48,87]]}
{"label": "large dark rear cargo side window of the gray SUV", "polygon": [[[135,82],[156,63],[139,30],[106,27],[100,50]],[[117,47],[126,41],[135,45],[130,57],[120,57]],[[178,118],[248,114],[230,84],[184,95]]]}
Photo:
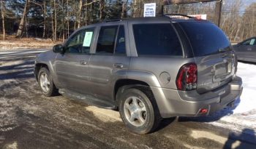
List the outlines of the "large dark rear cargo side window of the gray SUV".
{"label": "large dark rear cargo side window of the gray SUV", "polygon": [[133,25],[138,55],[182,55],[180,41],[170,24]]}

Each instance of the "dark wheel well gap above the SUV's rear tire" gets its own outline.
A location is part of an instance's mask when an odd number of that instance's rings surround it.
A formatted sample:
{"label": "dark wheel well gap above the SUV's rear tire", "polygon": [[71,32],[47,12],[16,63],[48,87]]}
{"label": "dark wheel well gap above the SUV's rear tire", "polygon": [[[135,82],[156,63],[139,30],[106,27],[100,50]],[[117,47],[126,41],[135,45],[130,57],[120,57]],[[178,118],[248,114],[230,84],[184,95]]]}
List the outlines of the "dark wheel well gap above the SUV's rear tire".
{"label": "dark wheel well gap above the SUV's rear tire", "polygon": [[[125,87],[126,86],[126,87]],[[114,98],[116,100],[116,95],[118,94],[118,89],[120,89],[121,87],[123,87],[123,89],[129,89],[132,87],[136,87],[136,88],[141,88],[141,87],[149,87],[149,85],[144,82],[144,81],[138,81],[138,80],[133,80],[133,79],[121,79],[116,81],[115,84],[115,90],[114,90]],[[121,92],[123,92],[124,90],[122,89]],[[121,93],[120,92],[120,93]]]}

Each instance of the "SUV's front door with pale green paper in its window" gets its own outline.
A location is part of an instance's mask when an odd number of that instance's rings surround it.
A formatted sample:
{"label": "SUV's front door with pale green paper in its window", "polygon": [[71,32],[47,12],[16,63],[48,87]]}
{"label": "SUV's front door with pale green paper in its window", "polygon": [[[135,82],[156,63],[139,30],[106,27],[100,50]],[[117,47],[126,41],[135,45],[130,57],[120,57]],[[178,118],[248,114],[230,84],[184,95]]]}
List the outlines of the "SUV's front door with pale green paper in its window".
{"label": "SUV's front door with pale green paper in its window", "polygon": [[56,75],[64,89],[89,93],[89,60],[94,28],[80,29],[64,44],[64,54],[56,56]]}

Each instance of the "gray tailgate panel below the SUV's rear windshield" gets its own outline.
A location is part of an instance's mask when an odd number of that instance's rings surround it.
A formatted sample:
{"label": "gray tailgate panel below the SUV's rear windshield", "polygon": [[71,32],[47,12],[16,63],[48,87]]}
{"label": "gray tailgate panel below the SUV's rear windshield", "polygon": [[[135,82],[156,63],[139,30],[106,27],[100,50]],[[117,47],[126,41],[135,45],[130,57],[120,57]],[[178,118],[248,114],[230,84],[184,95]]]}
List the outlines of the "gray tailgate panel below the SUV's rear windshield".
{"label": "gray tailgate panel below the SUV's rear windshield", "polygon": [[230,82],[235,74],[233,52],[196,57],[197,92],[202,94]]}

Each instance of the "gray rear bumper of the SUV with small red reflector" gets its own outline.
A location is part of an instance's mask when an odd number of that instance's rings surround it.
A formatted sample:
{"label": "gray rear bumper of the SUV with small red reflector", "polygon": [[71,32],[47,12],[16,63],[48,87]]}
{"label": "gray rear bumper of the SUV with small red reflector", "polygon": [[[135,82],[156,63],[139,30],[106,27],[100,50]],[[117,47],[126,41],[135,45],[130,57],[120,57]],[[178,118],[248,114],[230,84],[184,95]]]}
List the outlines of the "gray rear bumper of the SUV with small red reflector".
{"label": "gray rear bumper of the SUV with small red reflector", "polygon": [[[208,116],[228,105],[233,105],[243,90],[242,80],[236,76],[229,84],[212,92],[198,94],[195,90],[184,92],[174,89],[151,87],[163,118],[172,116]],[[200,113],[206,108],[207,113]]]}

